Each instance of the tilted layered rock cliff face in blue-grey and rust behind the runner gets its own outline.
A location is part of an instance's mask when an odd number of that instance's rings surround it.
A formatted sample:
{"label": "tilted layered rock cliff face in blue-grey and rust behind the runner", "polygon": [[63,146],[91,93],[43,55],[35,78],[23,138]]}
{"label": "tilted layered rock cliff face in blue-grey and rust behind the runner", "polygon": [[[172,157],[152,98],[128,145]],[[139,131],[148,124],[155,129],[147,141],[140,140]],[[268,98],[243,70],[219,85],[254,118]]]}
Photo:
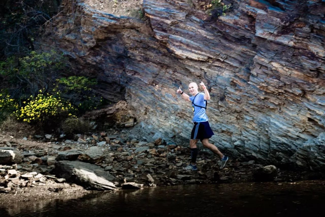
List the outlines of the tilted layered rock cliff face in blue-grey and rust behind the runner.
{"label": "tilted layered rock cliff face in blue-grey and rust behind the runner", "polygon": [[324,169],[325,4],[230,1],[214,18],[204,2],[143,0],[143,21],[65,0],[56,43],[97,76],[98,93],[127,101],[142,133],[187,145],[191,106],[176,90],[203,81],[211,141],[223,152]]}

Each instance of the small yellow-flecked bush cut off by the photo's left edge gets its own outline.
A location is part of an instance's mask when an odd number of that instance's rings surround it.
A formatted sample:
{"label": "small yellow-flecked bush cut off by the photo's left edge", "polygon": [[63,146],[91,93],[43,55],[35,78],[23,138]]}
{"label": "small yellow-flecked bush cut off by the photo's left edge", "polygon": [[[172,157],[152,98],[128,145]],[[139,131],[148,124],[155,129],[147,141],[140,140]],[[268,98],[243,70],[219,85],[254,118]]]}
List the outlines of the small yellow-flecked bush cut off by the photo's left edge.
{"label": "small yellow-flecked bush cut off by the photo's left edge", "polygon": [[4,121],[12,112],[17,110],[18,103],[9,94],[0,92],[0,122]]}

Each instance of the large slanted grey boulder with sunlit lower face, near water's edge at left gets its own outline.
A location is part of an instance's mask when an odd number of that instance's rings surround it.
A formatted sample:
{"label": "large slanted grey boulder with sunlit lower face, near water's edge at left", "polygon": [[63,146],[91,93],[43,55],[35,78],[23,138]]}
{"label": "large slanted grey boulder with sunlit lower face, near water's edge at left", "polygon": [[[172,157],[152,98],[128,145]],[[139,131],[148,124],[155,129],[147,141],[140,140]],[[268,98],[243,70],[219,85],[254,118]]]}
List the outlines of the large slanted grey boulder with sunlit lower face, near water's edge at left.
{"label": "large slanted grey boulder with sunlit lower face, near water's edge at left", "polygon": [[112,190],[115,177],[101,167],[81,161],[58,161],[55,173],[59,178],[77,183],[91,190]]}

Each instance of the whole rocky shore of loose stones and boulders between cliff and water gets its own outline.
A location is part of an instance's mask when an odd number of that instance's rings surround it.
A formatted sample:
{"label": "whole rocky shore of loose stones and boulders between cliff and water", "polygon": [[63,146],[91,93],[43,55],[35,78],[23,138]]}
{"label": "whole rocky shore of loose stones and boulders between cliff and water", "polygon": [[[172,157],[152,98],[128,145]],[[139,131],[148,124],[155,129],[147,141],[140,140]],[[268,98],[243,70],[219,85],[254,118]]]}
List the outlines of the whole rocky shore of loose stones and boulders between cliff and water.
{"label": "whole rocky shore of loose stones and boulders between cliff and water", "polygon": [[220,161],[202,150],[197,160],[199,171],[188,172],[182,169],[189,162],[186,144],[167,145],[161,138],[147,141],[129,135],[127,130],[75,135],[74,139],[48,134],[29,138],[4,135],[0,140],[0,204],[146,186],[325,177],[323,173],[288,171],[235,158],[220,170]]}

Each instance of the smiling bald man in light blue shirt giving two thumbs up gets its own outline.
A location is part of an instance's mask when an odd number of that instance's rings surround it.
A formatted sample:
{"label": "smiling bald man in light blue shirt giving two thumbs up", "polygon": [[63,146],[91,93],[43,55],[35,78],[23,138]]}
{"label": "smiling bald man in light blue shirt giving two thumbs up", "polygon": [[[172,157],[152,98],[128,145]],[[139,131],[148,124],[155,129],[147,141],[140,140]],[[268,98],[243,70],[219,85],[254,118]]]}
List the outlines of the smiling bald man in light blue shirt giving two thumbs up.
{"label": "smiling bald man in light blue shirt giving two thumbs up", "polygon": [[183,169],[189,171],[196,171],[198,169],[196,166],[196,156],[198,155],[196,144],[199,140],[201,140],[204,147],[210,149],[219,156],[221,159],[220,169],[222,169],[226,165],[229,158],[228,156],[223,155],[215,145],[209,142],[209,138],[214,135],[208,122],[208,116],[205,113],[207,100],[210,99],[210,94],[203,82],[201,82],[200,85],[203,88],[204,93],[199,93],[198,85],[196,83],[192,82],[188,85],[188,90],[192,96],[185,94],[180,87],[177,90],[177,93],[181,94],[184,100],[192,102],[192,110],[194,112],[194,126],[191,133],[191,139],[189,141],[189,146],[191,148],[191,162],[188,166],[183,167]]}

